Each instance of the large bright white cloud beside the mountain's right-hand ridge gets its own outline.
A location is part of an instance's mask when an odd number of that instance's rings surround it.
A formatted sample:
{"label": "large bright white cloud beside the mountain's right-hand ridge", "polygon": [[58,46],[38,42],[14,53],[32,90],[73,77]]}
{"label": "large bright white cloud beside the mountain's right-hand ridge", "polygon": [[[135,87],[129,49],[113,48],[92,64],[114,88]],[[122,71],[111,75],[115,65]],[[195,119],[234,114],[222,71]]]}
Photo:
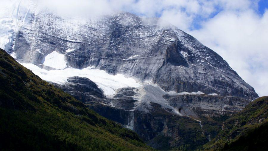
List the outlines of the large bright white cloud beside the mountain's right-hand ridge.
{"label": "large bright white cloud beside the mountain's right-hand ridge", "polygon": [[223,11],[190,32],[230,66],[260,95],[268,94],[268,11]]}

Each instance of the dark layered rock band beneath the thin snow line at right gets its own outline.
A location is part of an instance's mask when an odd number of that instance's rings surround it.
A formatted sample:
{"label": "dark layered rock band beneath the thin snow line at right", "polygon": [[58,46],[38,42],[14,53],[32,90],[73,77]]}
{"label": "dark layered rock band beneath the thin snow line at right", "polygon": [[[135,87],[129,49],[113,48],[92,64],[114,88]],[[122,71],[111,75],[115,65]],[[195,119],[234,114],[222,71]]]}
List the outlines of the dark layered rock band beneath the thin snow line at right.
{"label": "dark layered rock band beneath the thin snow line at right", "polygon": [[199,117],[231,116],[243,110],[251,101],[234,96],[212,95],[164,95],[171,106],[178,108],[182,115]]}

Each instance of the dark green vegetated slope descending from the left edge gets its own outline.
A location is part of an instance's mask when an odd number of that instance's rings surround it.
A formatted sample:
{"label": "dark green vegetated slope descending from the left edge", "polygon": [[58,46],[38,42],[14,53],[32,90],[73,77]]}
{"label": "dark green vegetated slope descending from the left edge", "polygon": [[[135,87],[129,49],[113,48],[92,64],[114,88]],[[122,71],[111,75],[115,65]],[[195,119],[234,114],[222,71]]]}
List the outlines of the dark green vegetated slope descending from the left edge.
{"label": "dark green vegetated slope descending from the left edge", "polygon": [[0,150],[151,150],[0,50]]}

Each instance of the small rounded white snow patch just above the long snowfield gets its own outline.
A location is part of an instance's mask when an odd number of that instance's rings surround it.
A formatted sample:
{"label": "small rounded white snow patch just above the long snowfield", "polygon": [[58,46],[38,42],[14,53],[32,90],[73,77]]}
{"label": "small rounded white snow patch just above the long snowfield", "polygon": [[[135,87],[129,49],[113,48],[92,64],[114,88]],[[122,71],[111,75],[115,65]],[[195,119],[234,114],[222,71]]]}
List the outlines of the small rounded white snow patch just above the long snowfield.
{"label": "small rounded white snow patch just above the long snowfield", "polygon": [[43,62],[43,65],[52,67],[55,69],[64,69],[66,68],[66,63],[67,62],[65,61],[63,54],[53,51],[52,53],[49,53],[45,57],[45,61]]}

